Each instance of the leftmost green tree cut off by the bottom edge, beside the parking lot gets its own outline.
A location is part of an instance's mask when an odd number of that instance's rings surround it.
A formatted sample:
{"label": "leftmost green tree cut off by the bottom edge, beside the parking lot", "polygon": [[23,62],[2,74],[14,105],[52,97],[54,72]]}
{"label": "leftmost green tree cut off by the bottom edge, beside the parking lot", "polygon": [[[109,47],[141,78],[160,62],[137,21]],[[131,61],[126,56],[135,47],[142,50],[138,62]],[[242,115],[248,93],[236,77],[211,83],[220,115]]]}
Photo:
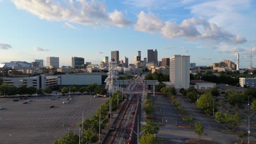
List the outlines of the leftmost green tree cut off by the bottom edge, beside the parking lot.
{"label": "leftmost green tree cut off by the bottom edge, beside the parking lot", "polygon": [[63,136],[63,137],[60,137],[59,140],[55,140],[54,141],[54,144],[77,144],[79,143],[79,136],[78,135],[75,135],[73,133],[72,130],[68,131],[68,133]]}

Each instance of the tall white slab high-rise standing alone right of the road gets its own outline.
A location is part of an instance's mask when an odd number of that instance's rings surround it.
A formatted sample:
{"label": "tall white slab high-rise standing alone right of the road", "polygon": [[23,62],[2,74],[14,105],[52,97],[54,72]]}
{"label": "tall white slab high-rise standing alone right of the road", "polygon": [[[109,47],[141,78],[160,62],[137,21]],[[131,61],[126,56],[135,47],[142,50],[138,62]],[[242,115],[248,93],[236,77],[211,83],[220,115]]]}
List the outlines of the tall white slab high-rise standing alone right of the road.
{"label": "tall white slab high-rise standing alone right of the road", "polygon": [[175,88],[189,88],[190,56],[174,55],[170,58],[170,82]]}

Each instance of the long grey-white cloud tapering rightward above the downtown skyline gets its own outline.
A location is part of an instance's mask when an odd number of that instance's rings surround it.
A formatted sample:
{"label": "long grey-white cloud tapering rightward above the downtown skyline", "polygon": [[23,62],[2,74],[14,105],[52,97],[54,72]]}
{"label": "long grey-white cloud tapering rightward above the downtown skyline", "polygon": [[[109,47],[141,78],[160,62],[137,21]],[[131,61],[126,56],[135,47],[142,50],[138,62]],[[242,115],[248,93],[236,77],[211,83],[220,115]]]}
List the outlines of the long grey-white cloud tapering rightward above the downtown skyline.
{"label": "long grey-white cloud tapering rightward above the downtown skyline", "polygon": [[189,40],[208,40],[216,43],[245,43],[246,39],[241,35],[235,35],[218,27],[216,23],[208,22],[202,17],[196,20],[194,17],[185,19],[181,24],[176,22],[162,21],[153,13],[141,11],[135,29],[141,32],[159,32],[164,37],[172,39],[183,37]]}

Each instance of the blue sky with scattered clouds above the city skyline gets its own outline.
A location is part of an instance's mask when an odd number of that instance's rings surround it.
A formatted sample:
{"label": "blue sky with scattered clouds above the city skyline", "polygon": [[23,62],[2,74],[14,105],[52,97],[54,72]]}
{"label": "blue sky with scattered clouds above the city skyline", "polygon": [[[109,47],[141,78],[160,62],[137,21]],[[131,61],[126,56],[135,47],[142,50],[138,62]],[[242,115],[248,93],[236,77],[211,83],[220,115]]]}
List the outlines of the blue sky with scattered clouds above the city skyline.
{"label": "blue sky with scattered clouds above the city skyline", "polygon": [[[189,55],[196,65],[231,60],[256,67],[256,1],[225,0],[0,0],[0,63],[71,57],[100,64],[148,49],[158,60]],[[46,62],[45,62],[46,63]]]}

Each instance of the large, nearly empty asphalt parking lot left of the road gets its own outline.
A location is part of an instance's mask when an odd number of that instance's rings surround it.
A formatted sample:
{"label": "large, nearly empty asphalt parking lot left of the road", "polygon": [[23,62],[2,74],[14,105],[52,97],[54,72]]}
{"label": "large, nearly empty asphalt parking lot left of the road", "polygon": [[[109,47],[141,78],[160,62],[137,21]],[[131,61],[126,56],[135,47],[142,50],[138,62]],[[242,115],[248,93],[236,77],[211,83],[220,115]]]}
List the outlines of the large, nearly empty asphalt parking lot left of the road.
{"label": "large, nearly empty asphalt parking lot left of the road", "polygon": [[[77,123],[84,118],[91,118],[97,107],[107,98],[93,95],[74,95],[74,99],[63,104],[68,96],[51,100],[50,96],[30,97],[13,101],[0,99],[0,143],[53,143],[64,136],[68,130],[78,134]],[[53,108],[50,108],[54,105]]]}

